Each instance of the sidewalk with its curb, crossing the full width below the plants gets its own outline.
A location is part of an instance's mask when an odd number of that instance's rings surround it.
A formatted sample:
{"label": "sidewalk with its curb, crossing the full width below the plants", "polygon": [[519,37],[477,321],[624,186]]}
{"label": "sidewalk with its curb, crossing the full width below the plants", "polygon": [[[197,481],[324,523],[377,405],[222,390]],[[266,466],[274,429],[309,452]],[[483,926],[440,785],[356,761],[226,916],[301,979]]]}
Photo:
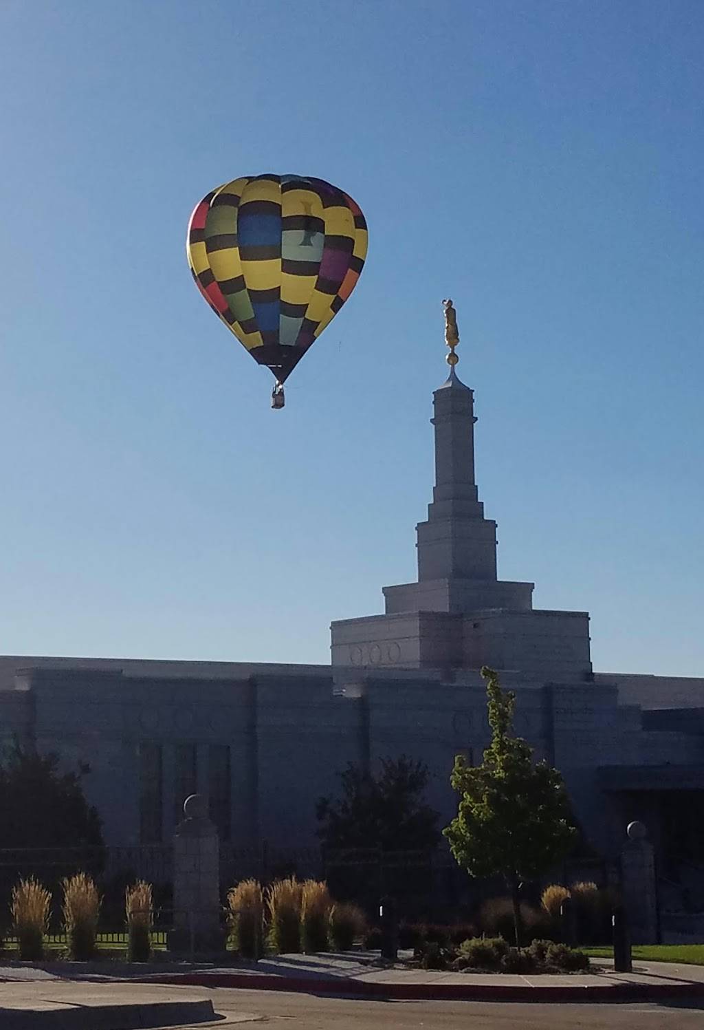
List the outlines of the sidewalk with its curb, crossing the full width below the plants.
{"label": "sidewalk with its curb, crossing the full width below the plants", "polygon": [[[411,953],[401,953],[401,958]],[[280,955],[259,962],[227,966],[207,963],[128,965],[100,962],[12,963],[0,967],[0,980],[44,983],[90,981],[117,984],[188,985],[247,990],[294,991],[379,998],[474,999],[497,1001],[621,1001],[626,999],[702,998],[704,966],[636,962],[632,973],[617,973],[606,959],[592,959],[588,973],[516,975],[411,969],[383,964],[375,952]],[[2,994],[5,991],[0,988]]]}

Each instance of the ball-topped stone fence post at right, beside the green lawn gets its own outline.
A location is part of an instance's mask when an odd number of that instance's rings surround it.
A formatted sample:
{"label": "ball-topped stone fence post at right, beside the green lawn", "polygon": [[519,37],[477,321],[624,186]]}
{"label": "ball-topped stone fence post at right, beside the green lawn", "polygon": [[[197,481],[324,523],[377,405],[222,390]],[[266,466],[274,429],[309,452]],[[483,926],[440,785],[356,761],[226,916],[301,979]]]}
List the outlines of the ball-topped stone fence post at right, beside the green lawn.
{"label": "ball-topped stone fence post at right, beside the green lawn", "polygon": [[629,823],[626,832],[628,840],[621,852],[621,876],[631,942],[655,945],[659,936],[655,848],[642,823]]}

